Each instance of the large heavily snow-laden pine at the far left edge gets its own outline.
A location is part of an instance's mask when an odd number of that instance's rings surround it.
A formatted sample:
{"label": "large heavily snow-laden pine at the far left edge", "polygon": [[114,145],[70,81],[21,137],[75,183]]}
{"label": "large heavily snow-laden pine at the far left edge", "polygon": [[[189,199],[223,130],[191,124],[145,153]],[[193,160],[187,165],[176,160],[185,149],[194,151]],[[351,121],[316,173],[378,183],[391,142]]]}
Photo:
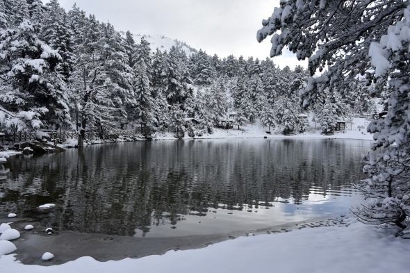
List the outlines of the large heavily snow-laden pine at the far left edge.
{"label": "large heavily snow-laden pine at the far left edge", "polygon": [[16,13],[10,15],[9,27],[1,30],[0,101],[5,113],[13,114],[3,117],[3,121],[9,127],[19,124],[20,131],[70,124],[65,83],[56,72],[61,56],[35,34],[25,1],[7,4],[10,10],[5,10],[6,14],[13,9]]}

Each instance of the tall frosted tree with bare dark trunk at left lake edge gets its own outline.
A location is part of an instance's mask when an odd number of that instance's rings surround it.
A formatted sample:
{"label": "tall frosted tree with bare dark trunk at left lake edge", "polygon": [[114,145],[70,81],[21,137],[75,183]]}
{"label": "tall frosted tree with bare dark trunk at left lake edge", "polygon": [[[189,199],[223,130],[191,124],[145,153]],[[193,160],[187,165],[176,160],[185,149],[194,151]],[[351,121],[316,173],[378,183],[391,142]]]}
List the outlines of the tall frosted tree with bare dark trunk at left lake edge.
{"label": "tall frosted tree with bare dark trunk at left lake edge", "polygon": [[[81,15],[81,13],[80,13]],[[104,32],[94,15],[90,15],[83,28],[85,33],[79,33],[74,56],[76,69],[70,77],[72,101],[76,113],[76,124],[79,126],[79,147],[83,147],[85,130],[95,129],[100,132],[115,126],[115,103],[113,92],[108,86],[111,81],[107,70],[108,53],[104,48]]]}

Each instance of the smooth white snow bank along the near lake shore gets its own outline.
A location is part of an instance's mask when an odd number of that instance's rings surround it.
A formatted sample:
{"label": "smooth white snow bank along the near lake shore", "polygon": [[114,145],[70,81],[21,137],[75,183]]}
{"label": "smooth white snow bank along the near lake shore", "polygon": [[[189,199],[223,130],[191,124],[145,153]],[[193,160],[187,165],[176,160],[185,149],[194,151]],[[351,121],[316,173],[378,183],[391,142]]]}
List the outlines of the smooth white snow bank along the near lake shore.
{"label": "smooth white snow bank along the near lake shore", "polygon": [[[409,240],[354,220],[350,226],[244,236],[203,249],[98,262],[82,257],[63,265],[23,265],[13,254],[0,257],[8,273],[40,272],[409,272]],[[42,254],[39,254],[39,259]],[[47,265],[47,262],[44,262]]]}

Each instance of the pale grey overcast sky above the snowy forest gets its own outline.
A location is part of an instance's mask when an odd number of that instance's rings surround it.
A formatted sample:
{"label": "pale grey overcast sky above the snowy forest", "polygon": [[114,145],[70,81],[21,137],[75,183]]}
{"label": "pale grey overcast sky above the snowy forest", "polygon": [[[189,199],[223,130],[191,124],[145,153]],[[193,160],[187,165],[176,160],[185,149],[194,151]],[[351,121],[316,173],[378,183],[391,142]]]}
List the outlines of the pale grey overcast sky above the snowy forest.
{"label": "pale grey overcast sky above the snowy forest", "polygon": [[[43,3],[49,2],[43,0]],[[94,14],[100,22],[110,22],[117,31],[142,35],[164,35],[186,42],[220,58],[230,54],[269,57],[270,39],[259,44],[256,31],[262,19],[272,15],[279,0],[59,0],[66,11],[74,3]],[[291,68],[298,62],[290,52],[275,57],[274,63]]]}

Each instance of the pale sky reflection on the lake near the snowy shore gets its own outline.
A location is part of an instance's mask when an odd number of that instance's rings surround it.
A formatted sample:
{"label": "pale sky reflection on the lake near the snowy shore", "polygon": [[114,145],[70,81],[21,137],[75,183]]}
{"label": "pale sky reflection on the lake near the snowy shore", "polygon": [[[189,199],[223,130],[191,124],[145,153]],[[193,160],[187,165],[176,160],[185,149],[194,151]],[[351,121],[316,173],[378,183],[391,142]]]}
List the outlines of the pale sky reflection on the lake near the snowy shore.
{"label": "pale sky reflection on the lake near the snowy shore", "polygon": [[[270,203],[272,206],[256,207],[245,204],[243,210],[208,208],[204,216],[197,216],[198,212],[191,212],[193,215],[181,215],[181,222],[173,226],[174,229],[171,231],[169,220],[165,220],[161,225],[151,226],[147,235],[161,237],[170,234],[174,236],[208,234],[209,231],[215,233],[252,231],[315,217],[339,217],[349,215],[349,208],[360,204],[362,200],[359,192],[352,192],[350,196],[326,195],[324,197],[311,194],[302,205],[293,204],[291,199],[278,199]],[[223,207],[224,204],[218,206]],[[141,236],[142,231],[136,229],[134,235]]]}

